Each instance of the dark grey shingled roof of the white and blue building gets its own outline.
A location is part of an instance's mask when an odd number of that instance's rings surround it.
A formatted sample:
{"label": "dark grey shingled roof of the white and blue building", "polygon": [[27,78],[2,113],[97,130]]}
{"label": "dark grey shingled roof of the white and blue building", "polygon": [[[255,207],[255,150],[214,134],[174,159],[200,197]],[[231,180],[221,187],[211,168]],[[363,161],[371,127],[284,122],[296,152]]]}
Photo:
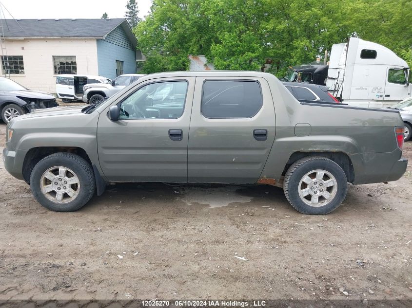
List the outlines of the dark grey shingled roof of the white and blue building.
{"label": "dark grey shingled roof of the white and blue building", "polygon": [[22,38],[96,38],[104,39],[118,26],[134,47],[136,37],[124,18],[110,19],[3,19],[5,39]]}

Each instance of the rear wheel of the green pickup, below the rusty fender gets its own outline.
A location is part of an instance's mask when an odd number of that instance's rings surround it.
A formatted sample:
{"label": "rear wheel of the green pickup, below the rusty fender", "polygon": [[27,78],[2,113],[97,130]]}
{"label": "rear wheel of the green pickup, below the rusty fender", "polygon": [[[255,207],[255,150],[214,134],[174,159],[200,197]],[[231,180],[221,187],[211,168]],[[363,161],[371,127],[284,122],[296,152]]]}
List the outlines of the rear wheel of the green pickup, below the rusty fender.
{"label": "rear wheel of the green pickup, below the rusty fender", "polygon": [[[322,179],[316,180],[317,176]],[[348,181],[345,172],[334,161],[321,156],[304,157],[286,172],[283,191],[296,211],[324,215],[334,211],[345,199]]]}

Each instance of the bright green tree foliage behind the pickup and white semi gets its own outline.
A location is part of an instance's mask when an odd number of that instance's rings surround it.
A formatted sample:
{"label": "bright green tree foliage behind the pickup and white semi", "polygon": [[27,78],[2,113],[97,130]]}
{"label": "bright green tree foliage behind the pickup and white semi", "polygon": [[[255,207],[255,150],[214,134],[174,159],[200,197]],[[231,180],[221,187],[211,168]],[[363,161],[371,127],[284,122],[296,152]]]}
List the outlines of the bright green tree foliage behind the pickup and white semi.
{"label": "bright green tree foliage behind the pickup and white semi", "polygon": [[411,21],[410,0],[154,0],[134,33],[146,73],[187,70],[188,54],[204,54],[218,70],[258,70],[271,58],[283,74],[349,36],[411,66]]}

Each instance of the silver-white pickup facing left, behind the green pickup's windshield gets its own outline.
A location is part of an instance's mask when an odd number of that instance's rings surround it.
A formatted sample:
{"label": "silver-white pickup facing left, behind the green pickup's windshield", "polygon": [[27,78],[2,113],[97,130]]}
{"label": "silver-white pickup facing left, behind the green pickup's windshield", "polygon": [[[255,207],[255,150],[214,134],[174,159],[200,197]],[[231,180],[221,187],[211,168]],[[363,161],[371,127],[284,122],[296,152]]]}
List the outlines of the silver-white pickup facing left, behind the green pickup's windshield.
{"label": "silver-white pickup facing left, behind the green pickup's windshield", "polygon": [[111,83],[91,83],[84,85],[83,102],[98,104],[142,76],[144,76],[144,74],[124,74],[113,79]]}

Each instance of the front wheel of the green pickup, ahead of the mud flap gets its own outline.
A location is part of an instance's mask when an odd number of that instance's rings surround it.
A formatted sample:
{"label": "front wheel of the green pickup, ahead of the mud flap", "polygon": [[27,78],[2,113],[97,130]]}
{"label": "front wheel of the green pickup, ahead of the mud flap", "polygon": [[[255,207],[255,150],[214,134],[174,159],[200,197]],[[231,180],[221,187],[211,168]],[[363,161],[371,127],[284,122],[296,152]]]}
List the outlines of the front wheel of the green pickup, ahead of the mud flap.
{"label": "front wheel of the green pickup, ahead of the mud flap", "polygon": [[[61,172],[63,169],[66,169],[64,173]],[[48,170],[51,170],[50,173]],[[36,164],[30,176],[30,188],[33,196],[45,208],[71,212],[81,208],[93,197],[96,180],[90,163],[76,154],[60,152]],[[62,196],[60,201],[58,193]]]}

